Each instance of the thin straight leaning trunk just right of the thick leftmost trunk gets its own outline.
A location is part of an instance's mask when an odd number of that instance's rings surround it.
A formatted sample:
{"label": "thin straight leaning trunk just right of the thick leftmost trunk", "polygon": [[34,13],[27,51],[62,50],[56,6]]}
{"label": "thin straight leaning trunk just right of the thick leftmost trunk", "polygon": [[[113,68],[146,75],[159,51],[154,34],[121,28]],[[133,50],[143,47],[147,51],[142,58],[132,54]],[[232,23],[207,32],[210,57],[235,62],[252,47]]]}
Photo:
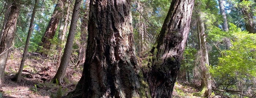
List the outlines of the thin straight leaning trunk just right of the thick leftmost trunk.
{"label": "thin straight leaning trunk just right of the thick leftmost trunk", "polygon": [[23,51],[21,65],[19,67],[19,72],[16,76],[16,82],[18,82],[18,83],[21,82],[21,75],[22,75],[24,63],[25,63],[25,60],[26,60],[26,57],[27,57],[27,50],[29,49],[29,39],[30,39],[31,33],[34,29],[33,23],[34,23],[34,18],[35,18],[35,15],[36,15],[37,4],[38,4],[38,0],[36,0],[35,4],[34,4],[32,16],[31,16],[31,20],[30,20],[30,24],[29,24],[29,32],[27,33],[26,45],[25,45],[25,48],[24,48],[24,51]]}

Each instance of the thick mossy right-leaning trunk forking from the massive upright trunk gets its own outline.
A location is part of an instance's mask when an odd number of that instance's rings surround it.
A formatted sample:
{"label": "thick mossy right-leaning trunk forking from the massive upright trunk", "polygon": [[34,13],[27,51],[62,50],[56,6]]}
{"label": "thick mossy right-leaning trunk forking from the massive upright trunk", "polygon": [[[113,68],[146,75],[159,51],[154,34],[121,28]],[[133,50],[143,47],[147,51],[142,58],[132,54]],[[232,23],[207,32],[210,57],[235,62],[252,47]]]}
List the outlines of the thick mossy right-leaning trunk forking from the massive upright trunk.
{"label": "thick mossy right-leaning trunk forking from the massive upright trunk", "polygon": [[194,0],[171,2],[156,45],[151,50],[148,82],[153,98],[171,97],[188,37],[193,5]]}

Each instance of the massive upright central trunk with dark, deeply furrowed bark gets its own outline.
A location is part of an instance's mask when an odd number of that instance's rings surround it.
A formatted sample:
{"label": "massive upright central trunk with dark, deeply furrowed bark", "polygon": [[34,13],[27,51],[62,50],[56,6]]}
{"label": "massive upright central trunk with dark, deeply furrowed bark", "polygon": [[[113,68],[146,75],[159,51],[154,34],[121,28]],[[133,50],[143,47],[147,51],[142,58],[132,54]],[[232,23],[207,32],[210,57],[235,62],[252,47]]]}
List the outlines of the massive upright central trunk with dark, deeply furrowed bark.
{"label": "massive upright central trunk with dark, deeply furrowed bark", "polygon": [[69,97],[138,98],[130,0],[90,0],[82,77]]}

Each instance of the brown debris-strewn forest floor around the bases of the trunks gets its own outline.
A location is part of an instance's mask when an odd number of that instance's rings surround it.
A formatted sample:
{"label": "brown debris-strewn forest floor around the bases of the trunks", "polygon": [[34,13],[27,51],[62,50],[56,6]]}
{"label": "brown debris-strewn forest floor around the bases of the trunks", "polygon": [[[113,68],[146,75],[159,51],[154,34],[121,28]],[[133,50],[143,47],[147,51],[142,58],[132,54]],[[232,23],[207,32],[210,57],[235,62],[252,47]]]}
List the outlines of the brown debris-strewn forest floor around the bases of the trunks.
{"label": "brown debris-strewn forest floor around the bases of the trunks", "polygon": [[[82,67],[68,66],[65,83],[62,86],[50,83],[57,67],[56,61],[49,58],[29,55],[25,61],[22,79],[15,82],[15,74],[19,70],[21,52],[11,52],[5,67],[5,83],[0,86],[0,98],[60,98],[75,89],[82,75]],[[194,86],[194,87],[192,87]],[[200,98],[193,96],[199,92],[195,85],[175,83],[173,98]]]}

